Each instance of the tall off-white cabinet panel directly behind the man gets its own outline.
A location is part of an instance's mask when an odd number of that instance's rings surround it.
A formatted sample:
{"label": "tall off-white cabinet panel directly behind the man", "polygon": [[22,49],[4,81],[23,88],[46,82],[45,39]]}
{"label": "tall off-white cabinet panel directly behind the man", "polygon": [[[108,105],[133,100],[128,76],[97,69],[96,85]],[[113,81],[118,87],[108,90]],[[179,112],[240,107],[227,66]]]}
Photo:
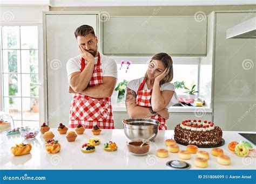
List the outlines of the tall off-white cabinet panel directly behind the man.
{"label": "tall off-white cabinet panel directly behind the man", "polygon": [[97,12],[44,13],[45,121],[51,128],[57,127],[59,122],[69,124],[72,95],[68,93],[66,62],[79,54],[74,32],[84,24],[92,26],[99,37]]}

